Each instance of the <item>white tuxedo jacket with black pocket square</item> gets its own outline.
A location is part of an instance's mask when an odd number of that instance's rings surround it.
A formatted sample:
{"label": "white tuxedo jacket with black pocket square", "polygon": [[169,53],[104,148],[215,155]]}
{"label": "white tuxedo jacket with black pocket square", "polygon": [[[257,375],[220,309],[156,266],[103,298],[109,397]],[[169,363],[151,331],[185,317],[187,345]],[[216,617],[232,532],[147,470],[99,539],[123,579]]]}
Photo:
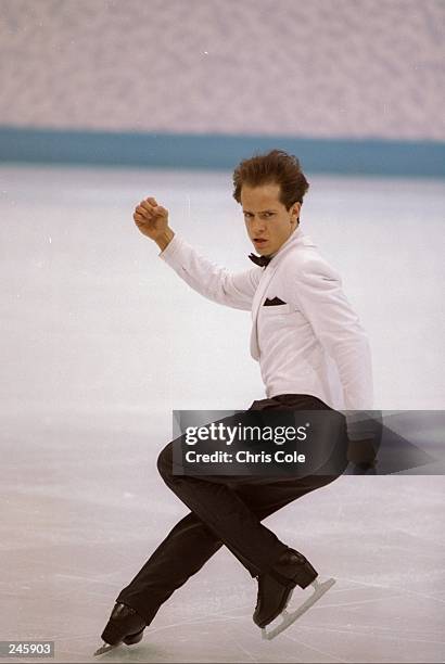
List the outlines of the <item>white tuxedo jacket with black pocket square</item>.
{"label": "white tuxedo jacket with black pocket square", "polygon": [[[340,274],[300,228],[266,268],[229,273],[178,234],[160,256],[208,299],[252,311],[251,355],[268,398],[309,394],[335,410],[372,408],[368,339]],[[265,305],[274,298],[283,304]]]}

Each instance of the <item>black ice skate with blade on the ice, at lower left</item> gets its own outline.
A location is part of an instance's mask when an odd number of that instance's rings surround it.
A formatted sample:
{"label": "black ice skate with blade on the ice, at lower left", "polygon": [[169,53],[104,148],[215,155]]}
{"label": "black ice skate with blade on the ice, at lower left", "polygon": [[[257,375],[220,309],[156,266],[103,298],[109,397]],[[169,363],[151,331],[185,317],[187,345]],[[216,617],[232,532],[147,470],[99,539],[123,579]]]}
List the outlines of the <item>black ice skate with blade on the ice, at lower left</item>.
{"label": "black ice skate with blade on the ice, at lower left", "polygon": [[94,652],[94,656],[117,648],[122,642],[127,646],[139,643],[145,627],[145,621],[135,611],[135,609],[116,602],[105,629],[102,633],[101,638],[104,643]]}

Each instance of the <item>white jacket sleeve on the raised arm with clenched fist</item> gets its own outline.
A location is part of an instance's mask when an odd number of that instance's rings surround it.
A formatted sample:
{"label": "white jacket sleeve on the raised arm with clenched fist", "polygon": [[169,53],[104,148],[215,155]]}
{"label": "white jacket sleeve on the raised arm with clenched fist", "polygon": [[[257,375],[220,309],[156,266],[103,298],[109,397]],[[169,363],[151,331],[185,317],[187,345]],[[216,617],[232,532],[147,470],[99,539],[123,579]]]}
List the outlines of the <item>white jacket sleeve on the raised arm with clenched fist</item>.
{"label": "white jacket sleeve on the raised arm with clenched fist", "polygon": [[263,272],[260,267],[231,274],[201,256],[176,233],[160,257],[207,299],[236,309],[251,310]]}

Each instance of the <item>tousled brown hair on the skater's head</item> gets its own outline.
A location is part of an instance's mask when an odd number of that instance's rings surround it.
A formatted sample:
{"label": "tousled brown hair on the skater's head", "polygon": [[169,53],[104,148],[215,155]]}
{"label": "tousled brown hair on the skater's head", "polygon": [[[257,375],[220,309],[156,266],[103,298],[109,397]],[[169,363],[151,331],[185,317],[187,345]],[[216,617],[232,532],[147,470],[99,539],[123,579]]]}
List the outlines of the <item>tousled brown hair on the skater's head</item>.
{"label": "tousled brown hair on the skater's head", "polygon": [[300,161],[293,154],[283,150],[272,150],[268,154],[259,154],[242,161],[233,171],[233,199],[241,203],[243,184],[260,187],[276,183],[280,186],[280,202],[289,210],[309,189],[301,169]]}

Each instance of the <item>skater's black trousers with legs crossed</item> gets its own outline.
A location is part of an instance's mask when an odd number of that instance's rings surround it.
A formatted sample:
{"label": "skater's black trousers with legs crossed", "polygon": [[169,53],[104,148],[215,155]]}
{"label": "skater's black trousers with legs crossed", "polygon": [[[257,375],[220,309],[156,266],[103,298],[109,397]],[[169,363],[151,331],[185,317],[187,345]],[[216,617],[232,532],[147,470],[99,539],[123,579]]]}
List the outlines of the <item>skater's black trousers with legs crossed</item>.
{"label": "skater's black trousers with legs crossed", "polygon": [[[249,410],[267,409],[331,410],[320,399],[300,394],[254,401]],[[342,471],[347,465],[346,452],[345,436]],[[175,475],[173,443],[160,454],[157,468],[166,485],[191,511],[175,525],[116,599],[132,606],[147,624],[223,545],[251,576],[266,573],[288,546],[262,521],[339,476],[318,473],[298,477]]]}

